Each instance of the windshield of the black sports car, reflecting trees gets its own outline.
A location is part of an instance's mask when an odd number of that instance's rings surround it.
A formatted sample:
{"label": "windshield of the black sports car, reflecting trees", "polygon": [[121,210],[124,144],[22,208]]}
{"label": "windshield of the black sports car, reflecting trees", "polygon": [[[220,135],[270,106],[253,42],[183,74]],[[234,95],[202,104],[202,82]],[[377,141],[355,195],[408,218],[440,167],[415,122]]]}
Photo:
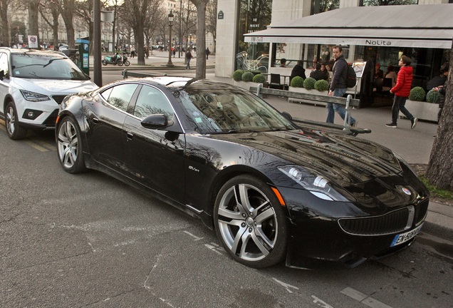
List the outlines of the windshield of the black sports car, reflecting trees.
{"label": "windshield of the black sports car, reflecting trees", "polygon": [[197,81],[173,92],[199,133],[291,130],[296,127],[260,98],[223,83]]}

